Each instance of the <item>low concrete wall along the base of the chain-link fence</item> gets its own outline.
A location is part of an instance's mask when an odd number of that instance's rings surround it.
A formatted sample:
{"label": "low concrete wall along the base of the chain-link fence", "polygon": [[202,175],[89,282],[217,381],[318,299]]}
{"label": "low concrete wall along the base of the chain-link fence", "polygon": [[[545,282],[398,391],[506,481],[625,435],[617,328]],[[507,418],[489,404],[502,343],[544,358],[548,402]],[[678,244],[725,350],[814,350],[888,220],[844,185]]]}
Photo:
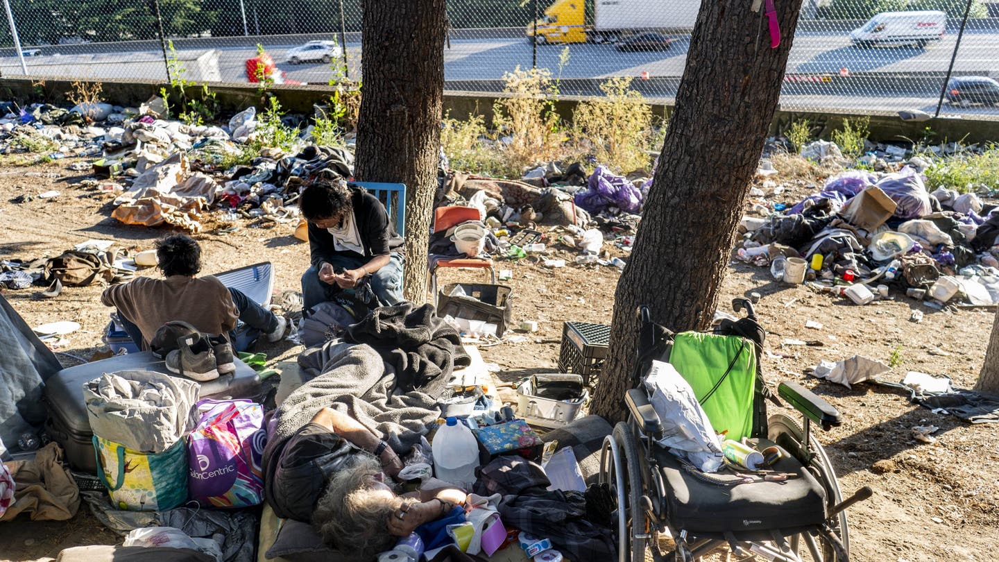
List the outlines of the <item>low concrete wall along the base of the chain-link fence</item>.
{"label": "low concrete wall along the base of the chain-link fence", "polygon": [[[17,101],[19,104],[46,101],[50,103],[65,102],[65,92],[71,89],[71,80],[53,80],[50,78],[3,77],[0,79],[0,101]],[[133,80],[102,80],[103,97],[109,103],[136,107],[153,95],[158,95],[161,87],[169,88],[169,84],[157,81]],[[211,87],[215,92],[223,111],[235,113],[249,105],[261,107],[262,99],[258,91],[246,84],[221,84]],[[281,86],[271,89],[281,100],[282,107],[291,113],[312,114],[314,104],[322,104],[330,94],[329,86],[304,85]],[[197,96],[200,88],[191,88],[189,95]],[[500,99],[498,94],[483,94],[478,92],[446,92],[444,98],[445,111],[451,117],[464,119],[470,113],[486,116],[487,123],[492,122],[493,104]],[[571,115],[572,108],[582,98],[565,96],[556,104],[560,115]],[[672,106],[654,104],[654,115],[668,115]],[[823,138],[828,138],[831,132],[842,125],[844,118],[857,117],[855,114],[834,113],[799,113],[778,111],[771,124],[771,134],[779,134],[787,129],[790,123],[799,119],[808,119],[815,130]],[[936,140],[975,142],[999,142],[999,122],[978,121],[973,119],[932,119],[925,122],[904,122],[897,117],[872,116],[870,123],[870,138],[877,141],[902,141],[920,139],[926,128],[929,128]]]}

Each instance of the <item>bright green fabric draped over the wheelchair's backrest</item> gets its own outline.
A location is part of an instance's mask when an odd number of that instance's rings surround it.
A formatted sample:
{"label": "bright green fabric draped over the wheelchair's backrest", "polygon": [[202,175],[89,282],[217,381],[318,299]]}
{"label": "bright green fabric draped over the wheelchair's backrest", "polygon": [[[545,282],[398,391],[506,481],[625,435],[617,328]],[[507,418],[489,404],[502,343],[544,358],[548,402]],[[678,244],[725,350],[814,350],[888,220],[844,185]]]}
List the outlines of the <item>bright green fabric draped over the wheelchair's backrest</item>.
{"label": "bright green fabric draped over the wheelchair's backrest", "polygon": [[738,336],[682,332],[673,339],[669,363],[693,389],[711,427],[738,441],[752,433],[756,354]]}

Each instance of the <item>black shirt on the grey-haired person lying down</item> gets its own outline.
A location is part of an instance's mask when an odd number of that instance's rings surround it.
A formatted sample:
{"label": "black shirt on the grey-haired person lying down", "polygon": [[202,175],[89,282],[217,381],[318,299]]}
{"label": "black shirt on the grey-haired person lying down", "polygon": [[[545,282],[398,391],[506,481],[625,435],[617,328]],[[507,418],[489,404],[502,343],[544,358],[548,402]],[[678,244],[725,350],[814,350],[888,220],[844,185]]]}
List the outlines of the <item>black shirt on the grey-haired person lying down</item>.
{"label": "black shirt on the grey-haired person lying down", "polygon": [[265,493],[278,517],[312,522],[327,479],[363,452],[317,423],[309,423],[268,459]]}

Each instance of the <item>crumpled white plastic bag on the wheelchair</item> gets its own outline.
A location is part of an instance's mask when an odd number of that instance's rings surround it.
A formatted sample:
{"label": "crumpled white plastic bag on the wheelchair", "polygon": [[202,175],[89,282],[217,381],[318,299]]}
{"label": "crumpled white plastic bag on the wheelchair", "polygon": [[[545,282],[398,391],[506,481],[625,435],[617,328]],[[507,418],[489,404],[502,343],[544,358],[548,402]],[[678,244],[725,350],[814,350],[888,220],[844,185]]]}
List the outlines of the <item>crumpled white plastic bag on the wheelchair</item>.
{"label": "crumpled white plastic bag on the wheelchair", "polygon": [[652,361],[644,383],[662,423],[663,437],[658,443],[704,472],[717,472],[724,458],[721,443],[690,384],[672,365],[661,361]]}

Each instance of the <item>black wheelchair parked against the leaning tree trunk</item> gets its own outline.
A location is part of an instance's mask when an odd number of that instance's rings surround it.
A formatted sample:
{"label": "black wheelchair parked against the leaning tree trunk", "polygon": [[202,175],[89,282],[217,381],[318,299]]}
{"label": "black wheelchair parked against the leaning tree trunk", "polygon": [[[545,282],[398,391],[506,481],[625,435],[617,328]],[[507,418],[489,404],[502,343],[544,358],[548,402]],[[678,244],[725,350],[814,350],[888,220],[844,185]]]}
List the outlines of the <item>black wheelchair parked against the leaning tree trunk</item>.
{"label": "black wheelchair parked against the leaning tree trunk", "polygon": [[[641,377],[652,360],[668,362],[673,334],[652,323],[647,308],[639,308],[638,361],[624,398],[628,418],[604,439],[600,456],[599,482],[615,502],[611,515],[618,559],[641,562],[648,552],[656,561],[692,562],[727,547],[733,560],[848,562],[846,509],[872,491],[865,486],[843,500],[829,457],[812,435],[813,425],[828,431],[840,425],[841,417],[795,382],[780,383],[777,393],[803,414],[803,422],[782,413],[767,417],[766,401],[780,402],[760,373],[765,331],[751,302],[735,299],[732,308],[736,313],[745,309],[746,315],[722,320],[714,333],[743,338],[755,353],[748,443],[757,450],[777,447],[779,458],[771,453],[772,471],[765,474],[729,467],[715,476],[691,470],[657,443],[663,427]],[[660,540],[668,538],[671,550]]]}

